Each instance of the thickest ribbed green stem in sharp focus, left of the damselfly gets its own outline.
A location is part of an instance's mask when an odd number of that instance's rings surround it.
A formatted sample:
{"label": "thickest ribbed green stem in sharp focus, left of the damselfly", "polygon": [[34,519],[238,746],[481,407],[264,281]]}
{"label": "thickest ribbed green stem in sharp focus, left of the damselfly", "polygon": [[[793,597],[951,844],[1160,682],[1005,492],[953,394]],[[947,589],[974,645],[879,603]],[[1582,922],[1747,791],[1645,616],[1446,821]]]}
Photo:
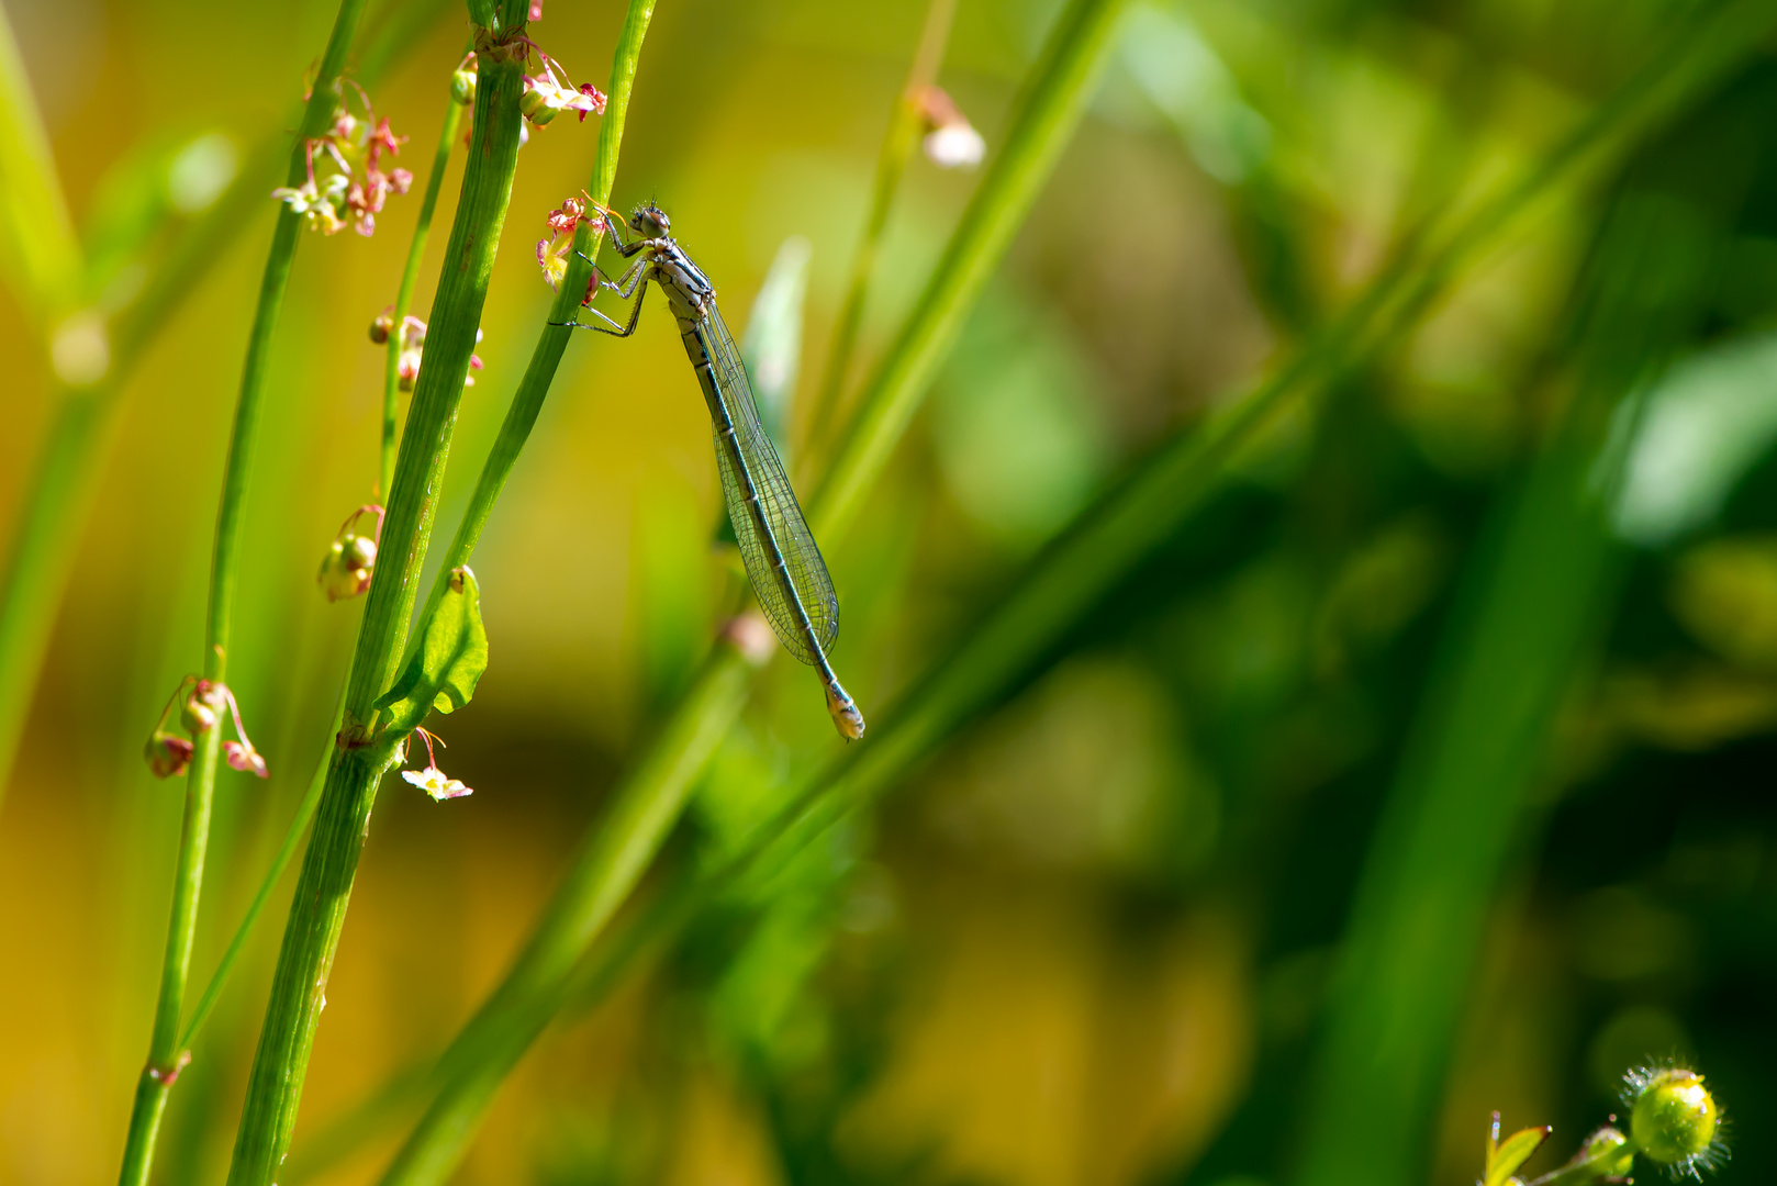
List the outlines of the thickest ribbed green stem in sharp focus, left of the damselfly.
{"label": "thickest ribbed green stem in sharp focus, left of the damselfly", "polygon": [[[515,36],[522,28],[519,20],[508,32]],[[487,281],[512,196],[522,64],[485,32],[478,36],[476,52],[474,139],[428,320],[426,363],[419,370],[389,489],[377,576],[359,624],[347,685],[345,727],[339,731],[339,747],[332,756],[315,832],[302,859],[265,1028],[247,1081],[247,1102],[227,1177],[231,1186],[268,1186],[290,1147],[327,976],[384,772],[364,741],[375,727],[375,701],[389,686],[402,654],[457,405],[462,400],[462,381],[469,373]]]}

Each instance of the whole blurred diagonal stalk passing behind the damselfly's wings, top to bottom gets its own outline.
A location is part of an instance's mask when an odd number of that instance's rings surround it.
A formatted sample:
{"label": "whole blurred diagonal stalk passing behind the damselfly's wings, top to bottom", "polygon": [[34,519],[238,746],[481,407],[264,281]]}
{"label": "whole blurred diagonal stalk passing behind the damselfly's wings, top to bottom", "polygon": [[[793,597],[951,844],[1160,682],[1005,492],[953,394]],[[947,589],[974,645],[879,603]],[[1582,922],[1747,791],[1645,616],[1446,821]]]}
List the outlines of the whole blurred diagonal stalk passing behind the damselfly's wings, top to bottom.
{"label": "whole blurred diagonal stalk passing behind the damselfly's wings, top to bottom", "polygon": [[[938,324],[960,322],[967,315],[981,281],[1029,210],[1036,188],[1073,132],[1121,7],[1123,0],[1075,0],[1057,20],[1032,69],[1006,148],[983,180],[986,197],[977,194],[970,204],[947,252],[951,263],[933,279],[933,288],[944,295],[931,297],[928,290],[915,313],[922,329],[903,333],[897,350],[917,343],[935,357],[954,340],[954,325]],[[897,373],[903,375],[894,388],[897,398],[903,405],[917,404],[922,379],[906,370]],[[929,377],[929,368],[924,373]],[[878,389],[885,389],[883,384]],[[855,429],[853,439],[885,432],[887,427],[888,421],[878,418]],[[892,441],[881,441],[869,455],[885,459],[890,448]],[[878,471],[880,464],[869,473],[855,468],[851,480],[862,493]],[[505,1072],[554,1015],[560,985],[627,900],[677,823],[689,788],[739,715],[750,685],[746,660],[732,647],[718,647],[620,784],[611,811],[588,830],[506,978],[453,1040],[441,1062],[446,1085],[391,1165],[386,1184],[437,1182],[457,1165]]]}

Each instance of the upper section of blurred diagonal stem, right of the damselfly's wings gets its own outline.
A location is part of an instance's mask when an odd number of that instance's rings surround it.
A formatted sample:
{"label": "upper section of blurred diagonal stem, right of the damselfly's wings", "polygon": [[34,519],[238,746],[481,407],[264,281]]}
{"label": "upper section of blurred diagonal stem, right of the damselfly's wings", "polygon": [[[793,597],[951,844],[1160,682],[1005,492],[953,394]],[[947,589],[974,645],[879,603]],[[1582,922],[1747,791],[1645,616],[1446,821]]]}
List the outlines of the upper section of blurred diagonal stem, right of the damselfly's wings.
{"label": "upper section of blurred diagonal stem, right of the damselfly's wings", "polygon": [[919,304],[876,375],[814,496],[814,537],[844,535],[888,462],[974,308],[1024,224],[1061,149],[1073,139],[1109,53],[1125,0],[1073,0],[1057,18],[1006,144],[988,167]]}

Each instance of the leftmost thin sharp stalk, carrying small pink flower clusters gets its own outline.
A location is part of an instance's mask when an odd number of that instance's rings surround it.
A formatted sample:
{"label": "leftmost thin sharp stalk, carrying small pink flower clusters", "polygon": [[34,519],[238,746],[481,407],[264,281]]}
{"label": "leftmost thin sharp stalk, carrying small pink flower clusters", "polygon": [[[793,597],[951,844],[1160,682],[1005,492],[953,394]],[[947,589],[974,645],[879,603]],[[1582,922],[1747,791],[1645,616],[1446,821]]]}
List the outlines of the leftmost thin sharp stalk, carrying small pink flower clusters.
{"label": "leftmost thin sharp stalk, carrying small pink flower clusters", "polygon": [[[364,0],[343,0],[334,20],[315,89],[309,94],[297,142],[290,155],[290,183],[300,185],[307,174],[307,137],[320,135],[332,117],[334,84],[345,66],[347,50],[357,32]],[[252,475],[252,446],[258,436],[259,405],[265,397],[267,359],[272,334],[284,306],[290,283],[290,265],[297,254],[297,236],[302,217],[288,206],[279,208],[277,229],[272,233],[272,251],[265,261],[259,283],[259,304],[247,338],[247,363],[242,370],[240,400],[235,405],[235,432],[229,439],[227,466],[222,475],[222,498],[217,509],[215,551],[210,564],[210,613],[204,622],[203,674],[211,685],[227,677],[227,653],[235,622],[235,583],[240,576],[242,516],[247,501],[247,480]],[[204,850],[210,843],[210,805],[215,797],[217,761],[222,749],[224,722],[199,733],[185,789],[185,820],[179,829],[179,853],[172,882],[172,923],[167,926],[167,955],[160,976],[160,1001],[155,1006],[155,1031],[147,1047],[147,1065],[137,1085],[130,1113],[130,1133],[124,1140],[124,1158],[119,1181],[124,1186],[147,1182],[155,1159],[155,1136],[179,1069],[190,1056],[179,1047],[179,1017],[185,1008],[185,980],[190,974],[192,941],[197,934],[197,905],[203,896]]]}

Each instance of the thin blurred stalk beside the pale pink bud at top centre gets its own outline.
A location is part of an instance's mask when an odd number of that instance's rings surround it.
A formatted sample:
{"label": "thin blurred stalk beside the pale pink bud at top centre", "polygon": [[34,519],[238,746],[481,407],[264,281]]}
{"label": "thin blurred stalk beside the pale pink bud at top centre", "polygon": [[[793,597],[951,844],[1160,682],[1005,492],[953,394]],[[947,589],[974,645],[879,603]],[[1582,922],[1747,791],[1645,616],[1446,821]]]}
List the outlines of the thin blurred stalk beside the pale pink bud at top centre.
{"label": "thin blurred stalk beside the pale pink bud at top centre", "polygon": [[906,71],[906,84],[896,96],[894,110],[888,112],[888,132],[883,135],[881,155],[876,158],[871,212],[864,220],[864,238],[858,240],[858,249],[851,256],[846,301],[839,306],[833,345],[826,352],[821,388],[810,411],[809,429],[803,434],[805,453],[814,453],[825,445],[826,432],[841,413],[846,372],[851,370],[851,354],[858,347],[871,281],[876,279],[876,252],[881,251],[883,235],[888,229],[888,212],[894,210],[901,174],[906,172],[906,162],[913,156],[913,144],[919,140],[919,98],[926,87],[938,80],[938,64],[944,60],[944,43],[951,37],[952,16],[956,16],[956,0],[931,0],[926,7],[926,27],[919,34],[919,50]]}

